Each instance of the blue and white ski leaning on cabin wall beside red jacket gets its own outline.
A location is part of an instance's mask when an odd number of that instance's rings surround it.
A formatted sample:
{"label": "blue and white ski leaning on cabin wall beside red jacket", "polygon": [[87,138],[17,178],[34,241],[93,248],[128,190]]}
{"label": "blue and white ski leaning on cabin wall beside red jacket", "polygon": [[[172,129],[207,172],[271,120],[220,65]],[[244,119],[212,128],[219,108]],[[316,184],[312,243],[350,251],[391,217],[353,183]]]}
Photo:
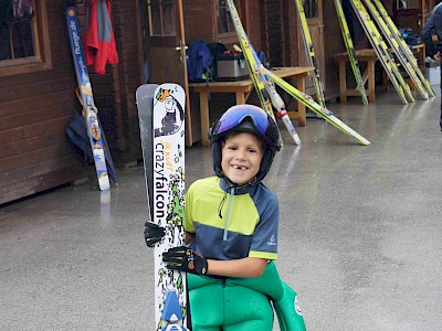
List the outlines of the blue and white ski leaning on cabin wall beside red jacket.
{"label": "blue and white ski leaning on cabin wall beside red jacket", "polygon": [[70,35],[72,57],[74,60],[75,74],[78,83],[78,90],[83,104],[83,116],[87,125],[87,136],[94,156],[95,170],[98,179],[101,191],[109,190],[110,182],[106,168],[106,159],[104,153],[104,132],[101,130],[97,108],[95,107],[94,96],[87,66],[84,58],[84,51],[80,33],[77,9],[69,7],[66,9],[67,31]]}

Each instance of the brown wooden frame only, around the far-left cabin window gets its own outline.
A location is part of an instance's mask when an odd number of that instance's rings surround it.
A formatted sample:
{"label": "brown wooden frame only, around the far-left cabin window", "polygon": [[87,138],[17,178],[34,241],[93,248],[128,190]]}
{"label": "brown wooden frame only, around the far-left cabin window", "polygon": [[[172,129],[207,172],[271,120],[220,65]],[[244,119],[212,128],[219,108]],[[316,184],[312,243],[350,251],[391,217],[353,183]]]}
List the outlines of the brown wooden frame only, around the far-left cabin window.
{"label": "brown wooden frame only, around the far-left cabin window", "polygon": [[34,1],[32,19],[35,55],[0,61],[0,77],[28,74],[52,68],[46,0]]}

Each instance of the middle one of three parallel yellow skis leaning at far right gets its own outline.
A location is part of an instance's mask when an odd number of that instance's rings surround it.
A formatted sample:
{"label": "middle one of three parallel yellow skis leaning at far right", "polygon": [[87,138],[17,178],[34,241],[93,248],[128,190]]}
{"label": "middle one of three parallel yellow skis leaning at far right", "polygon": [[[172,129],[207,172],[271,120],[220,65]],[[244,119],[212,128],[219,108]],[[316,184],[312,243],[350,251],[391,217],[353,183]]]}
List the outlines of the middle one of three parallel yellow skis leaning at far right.
{"label": "middle one of three parallel yellow skis leaning at far right", "polygon": [[388,28],[386,21],[380,15],[378,10],[376,9],[375,4],[370,0],[365,0],[366,6],[368,10],[371,12],[372,18],[375,19],[376,23],[378,24],[380,31],[382,31],[385,39],[388,41],[390,44],[391,49],[393,50],[396,57],[399,60],[399,62],[402,64],[403,68],[406,70],[407,74],[409,77],[413,81],[415,88],[418,92],[421,94],[421,96],[428,100],[429,94],[423,86],[423,83],[419,78],[417,74],[417,70],[419,71],[418,67],[412,65],[412,62],[408,60],[406,54],[402,52],[402,50],[399,46],[399,43],[397,40],[391,35],[390,28]]}

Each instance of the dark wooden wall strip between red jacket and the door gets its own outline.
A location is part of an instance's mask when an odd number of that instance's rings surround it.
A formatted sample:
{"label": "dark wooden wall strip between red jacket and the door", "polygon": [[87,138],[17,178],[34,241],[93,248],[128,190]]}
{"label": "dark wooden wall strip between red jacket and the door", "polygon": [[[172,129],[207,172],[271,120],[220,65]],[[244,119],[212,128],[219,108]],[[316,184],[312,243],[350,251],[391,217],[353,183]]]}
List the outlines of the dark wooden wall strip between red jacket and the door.
{"label": "dark wooden wall strip between red jacket and the door", "polygon": [[113,26],[118,65],[107,66],[107,77],[94,75],[93,86],[101,86],[104,102],[101,116],[108,124],[106,138],[117,168],[143,159],[135,92],[143,82],[143,40],[138,0],[112,1]]}

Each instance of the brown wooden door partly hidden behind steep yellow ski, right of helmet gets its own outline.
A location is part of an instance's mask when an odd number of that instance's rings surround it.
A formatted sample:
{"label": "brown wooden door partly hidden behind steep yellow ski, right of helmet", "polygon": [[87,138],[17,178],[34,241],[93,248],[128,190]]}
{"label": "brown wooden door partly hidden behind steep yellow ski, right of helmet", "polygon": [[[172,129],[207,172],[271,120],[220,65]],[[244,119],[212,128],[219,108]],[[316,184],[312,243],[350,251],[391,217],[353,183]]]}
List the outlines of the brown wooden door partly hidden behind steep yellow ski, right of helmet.
{"label": "brown wooden door partly hidden behind steep yellow ski, right of helmet", "polygon": [[[313,47],[315,50],[315,60],[319,68],[320,83],[323,89],[326,90],[325,86],[325,54],[324,54],[324,23],[323,23],[323,0],[303,0],[303,7],[305,15],[307,17],[308,31],[312,36]],[[298,54],[299,65],[308,65],[307,52],[305,49],[302,31],[298,29]],[[315,94],[313,83],[307,85],[307,93]]]}

